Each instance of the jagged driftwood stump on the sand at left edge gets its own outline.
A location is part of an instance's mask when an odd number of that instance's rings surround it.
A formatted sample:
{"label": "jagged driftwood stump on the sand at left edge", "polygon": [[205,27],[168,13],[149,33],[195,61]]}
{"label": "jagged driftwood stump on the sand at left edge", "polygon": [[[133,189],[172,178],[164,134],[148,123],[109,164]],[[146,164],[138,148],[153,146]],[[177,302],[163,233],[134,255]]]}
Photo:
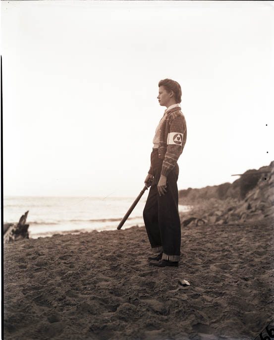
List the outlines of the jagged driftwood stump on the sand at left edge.
{"label": "jagged driftwood stump on the sand at left edge", "polygon": [[29,224],[26,224],[28,213],[29,211],[26,211],[24,215],[20,217],[18,223],[5,223],[3,225],[4,243],[29,238],[28,233]]}

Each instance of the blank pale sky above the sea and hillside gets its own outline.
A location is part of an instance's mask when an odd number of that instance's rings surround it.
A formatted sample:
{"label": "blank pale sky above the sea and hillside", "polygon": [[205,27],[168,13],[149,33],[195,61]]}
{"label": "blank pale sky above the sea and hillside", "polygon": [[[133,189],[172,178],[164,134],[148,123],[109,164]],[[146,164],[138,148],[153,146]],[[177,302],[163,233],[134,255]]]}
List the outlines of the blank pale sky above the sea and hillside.
{"label": "blank pale sky above the sea and hillside", "polygon": [[164,78],[179,190],[274,160],[271,1],[1,1],[1,55],[4,195],[139,194]]}

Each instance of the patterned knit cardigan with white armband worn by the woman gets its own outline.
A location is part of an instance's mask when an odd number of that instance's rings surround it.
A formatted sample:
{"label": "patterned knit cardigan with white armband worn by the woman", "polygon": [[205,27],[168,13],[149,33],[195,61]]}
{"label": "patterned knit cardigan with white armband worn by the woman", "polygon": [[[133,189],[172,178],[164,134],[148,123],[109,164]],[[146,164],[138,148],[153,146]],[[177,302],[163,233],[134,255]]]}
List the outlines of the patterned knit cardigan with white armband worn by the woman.
{"label": "patterned knit cardigan with white armband worn by the woman", "polygon": [[[160,127],[159,158],[164,159],[161,175],[167,176],[183,152],[186,142],[186,121],[179,106],[168,111]],[[149,174],[153,175],[152,164]]]}

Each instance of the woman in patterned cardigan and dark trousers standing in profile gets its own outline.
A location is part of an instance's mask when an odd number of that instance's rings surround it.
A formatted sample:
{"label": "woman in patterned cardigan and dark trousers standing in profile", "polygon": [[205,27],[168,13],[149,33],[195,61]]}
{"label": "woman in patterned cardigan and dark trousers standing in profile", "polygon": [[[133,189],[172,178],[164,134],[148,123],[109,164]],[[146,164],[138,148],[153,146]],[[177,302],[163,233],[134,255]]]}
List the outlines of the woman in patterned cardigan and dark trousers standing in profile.
{"label": "woman in patterned cardigan and dark trousers standing in profile", "polygon": [[178,212],[177,160],[186,142],[186,121],[179,103],[181,87],[171,79],[159,82],[158,100],[165,106],[153,139],[151,165],[145,184],[150,187],[143,211],[152,251],[151,265],[178,267],[181,247],[181,223]]}

